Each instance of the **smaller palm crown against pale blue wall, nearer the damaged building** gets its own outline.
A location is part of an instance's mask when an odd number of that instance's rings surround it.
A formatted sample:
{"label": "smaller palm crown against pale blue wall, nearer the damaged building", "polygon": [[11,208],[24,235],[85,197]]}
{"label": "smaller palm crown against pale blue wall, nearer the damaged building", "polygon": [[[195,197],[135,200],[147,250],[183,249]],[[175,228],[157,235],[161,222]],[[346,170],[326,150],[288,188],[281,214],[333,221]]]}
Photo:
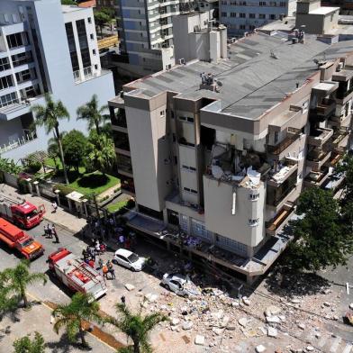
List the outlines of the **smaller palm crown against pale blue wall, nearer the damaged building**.
{"label": "smaller palm crown against pale blue wall, nearer the damaged building", "polygon": [[88,129],[95,127],[97,134],[101,133],[99,126],[109,119],[109,115],[104,115],[104,111],[108,109],[108,105],[102,105],[98,108],[98,97],[92,95],[89,102],[77,108],[77,119],[85,119],[88,122]]}

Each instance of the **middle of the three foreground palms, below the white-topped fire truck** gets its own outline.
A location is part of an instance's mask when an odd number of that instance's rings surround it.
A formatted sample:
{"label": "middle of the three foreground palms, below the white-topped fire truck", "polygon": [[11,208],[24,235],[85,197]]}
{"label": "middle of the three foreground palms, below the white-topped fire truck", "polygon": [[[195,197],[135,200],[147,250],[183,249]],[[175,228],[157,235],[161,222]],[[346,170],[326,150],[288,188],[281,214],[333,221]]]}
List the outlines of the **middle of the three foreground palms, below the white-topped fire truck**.
{"label": "middle of the three foreground palms, below the white-topped fire truck", "polygon": [[57,318],[53,329],[59,333],[62,327],[66,327],[68,339],[72,342],[76,341],[78,333],[82,346],[87,347],[82,326],[85,321],[102,322],[98,312],[99,303],[94,300],[93,296],[78,292],[71,298],[71,303],[58,305],[53,311],[54,317]]}

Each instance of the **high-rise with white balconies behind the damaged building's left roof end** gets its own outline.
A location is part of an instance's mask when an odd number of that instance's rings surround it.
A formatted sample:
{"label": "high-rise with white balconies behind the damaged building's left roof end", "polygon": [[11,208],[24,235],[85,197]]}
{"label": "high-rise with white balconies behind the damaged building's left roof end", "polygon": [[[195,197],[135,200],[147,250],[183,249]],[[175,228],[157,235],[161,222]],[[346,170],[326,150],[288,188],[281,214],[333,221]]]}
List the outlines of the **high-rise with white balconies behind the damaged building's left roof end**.
{"label": "high-rise with white balconies behind the damaged building's left roof end", "polygon": [[[145,76],[175,63],[172,18],[196,8],[190,0],[117,0],[120,50],[126,71]],[[212,4],[200,2],[199,11],[213,11]],[[120,67],[124,68],[124,62]]]}

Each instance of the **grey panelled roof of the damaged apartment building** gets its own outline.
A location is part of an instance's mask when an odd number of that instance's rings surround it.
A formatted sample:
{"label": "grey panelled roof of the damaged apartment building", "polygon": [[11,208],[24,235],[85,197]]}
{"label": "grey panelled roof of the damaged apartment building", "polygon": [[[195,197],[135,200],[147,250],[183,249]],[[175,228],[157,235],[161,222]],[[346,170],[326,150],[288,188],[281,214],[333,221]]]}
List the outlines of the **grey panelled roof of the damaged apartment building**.
{"label": "grey panelled roof of the damaged apartment building", "polygon": [[[229,59],[195,60],[160,71],[125,85],[137,89],[126,95],[150,99],[169,91],[190,100],[211,98],[220,102],[217,113],[257,119],[317,72],[313,59],[335,59],[350,51],[353,41],[330,45],[306,35],[304,44],[293,44],[285,33],[257,33],[231,44]],[[213,74],[218,92],[200,89],[203,72]]]}

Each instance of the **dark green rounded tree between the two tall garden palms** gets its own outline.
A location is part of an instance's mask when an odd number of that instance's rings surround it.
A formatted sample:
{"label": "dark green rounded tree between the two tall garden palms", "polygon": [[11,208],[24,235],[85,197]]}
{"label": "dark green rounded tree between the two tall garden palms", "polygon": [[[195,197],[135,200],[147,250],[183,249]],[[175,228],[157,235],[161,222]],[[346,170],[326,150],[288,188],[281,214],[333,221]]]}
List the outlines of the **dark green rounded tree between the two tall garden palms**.
{"label": "dark green rounded tree between the two tall garden palms", "polygon": [[81,131],[72,130],[64,135],[62,148],[68,167],[74,167],[78,171],[85,158],[86,145],[86,136]]}

